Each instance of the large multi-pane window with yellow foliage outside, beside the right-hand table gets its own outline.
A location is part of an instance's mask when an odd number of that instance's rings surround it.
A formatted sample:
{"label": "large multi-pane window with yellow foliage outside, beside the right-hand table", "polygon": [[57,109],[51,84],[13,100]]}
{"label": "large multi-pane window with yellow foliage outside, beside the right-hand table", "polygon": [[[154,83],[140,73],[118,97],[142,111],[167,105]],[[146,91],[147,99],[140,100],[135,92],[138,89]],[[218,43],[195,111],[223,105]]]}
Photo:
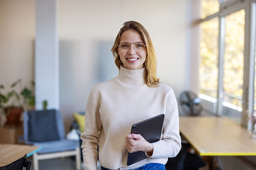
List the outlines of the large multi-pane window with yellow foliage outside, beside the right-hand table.
{"label": "large multi-pane window with yellow foliage outside, beside the right-hand table", "polygon": [[250,18],[256,18],[252,6],[251,1],[201,0],[199,97],[207,114],[227,116],[243,126],[247,114],[256,110],[256,67],[246,68],[251,56],[256,61],[256,26],[254,32],[249,29]]}

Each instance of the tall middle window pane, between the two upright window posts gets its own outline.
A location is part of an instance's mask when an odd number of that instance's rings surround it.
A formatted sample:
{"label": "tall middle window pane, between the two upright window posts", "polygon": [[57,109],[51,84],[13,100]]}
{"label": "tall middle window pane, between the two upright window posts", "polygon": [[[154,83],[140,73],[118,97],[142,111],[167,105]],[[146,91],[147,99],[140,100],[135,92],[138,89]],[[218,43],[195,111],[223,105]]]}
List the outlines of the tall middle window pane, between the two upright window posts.
{"label": "tall middle window pane, between the two upright window posts", "polygon": [[244,16],[244,10],[241,10],[225,17],[223,115],[239,123],[243,93]]}

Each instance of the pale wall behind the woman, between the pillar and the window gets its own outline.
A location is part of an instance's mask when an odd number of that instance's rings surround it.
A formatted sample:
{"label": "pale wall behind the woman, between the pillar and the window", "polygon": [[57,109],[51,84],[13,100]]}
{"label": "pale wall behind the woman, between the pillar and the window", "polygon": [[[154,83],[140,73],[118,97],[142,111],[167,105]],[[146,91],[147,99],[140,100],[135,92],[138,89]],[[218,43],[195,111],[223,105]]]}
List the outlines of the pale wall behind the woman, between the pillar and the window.
{"label": "pale wall behind the woman, between the pillar and the window", "polygon": [[[89,92],[99,82],[99,58],[108,57],[113,64],[106,69],[116,69],[110,50],[122,24],[131,20],[149,32],[158,59],[157,75],[179,97],[190,81],[187,9],[185,0],[59,1],[61,112],[67,116],[85,110]],[[100,43],[109,46],[102,49],[102,56],[98,56]],[[116,75],[114,70],[112,77]]]}

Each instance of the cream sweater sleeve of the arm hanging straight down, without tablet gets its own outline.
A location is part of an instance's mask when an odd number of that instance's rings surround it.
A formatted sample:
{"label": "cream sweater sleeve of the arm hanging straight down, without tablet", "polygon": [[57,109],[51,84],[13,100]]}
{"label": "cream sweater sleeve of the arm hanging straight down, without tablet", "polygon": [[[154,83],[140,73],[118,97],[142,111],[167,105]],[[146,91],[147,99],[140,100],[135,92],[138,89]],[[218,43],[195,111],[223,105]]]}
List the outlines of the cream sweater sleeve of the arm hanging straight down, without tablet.
{"label": "cream sweater sleeve of the arm hanging straight down, without tablet", "polygon": [[82,139],[81,148],[84,169],[97,169],[97,146],[99,145],[98,132],[102,127],[99,108],[100,104],[95,96],[94,89],[92,89],[86,106],[86,124],[84,126],[84,133],[80,136]]}

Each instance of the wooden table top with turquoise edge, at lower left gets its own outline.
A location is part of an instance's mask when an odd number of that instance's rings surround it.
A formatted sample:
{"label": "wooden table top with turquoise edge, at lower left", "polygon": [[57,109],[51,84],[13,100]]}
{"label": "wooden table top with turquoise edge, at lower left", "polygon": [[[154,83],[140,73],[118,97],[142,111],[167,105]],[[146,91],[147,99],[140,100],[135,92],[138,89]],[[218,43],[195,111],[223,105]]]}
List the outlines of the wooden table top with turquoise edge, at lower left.
{"label": "wooden table top with turquoise edge, at lower left", "polygon": [[41,149],[42,147],[40,146],[0,143],[0,166],[12,163],[25,154],[29,157]]}

